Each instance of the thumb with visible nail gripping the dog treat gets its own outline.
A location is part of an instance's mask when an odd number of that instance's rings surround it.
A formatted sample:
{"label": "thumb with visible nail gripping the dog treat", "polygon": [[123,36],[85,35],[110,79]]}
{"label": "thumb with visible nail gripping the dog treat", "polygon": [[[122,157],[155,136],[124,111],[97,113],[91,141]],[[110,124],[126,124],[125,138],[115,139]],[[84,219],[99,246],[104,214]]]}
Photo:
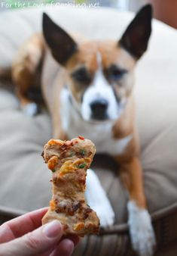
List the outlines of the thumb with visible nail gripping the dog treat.
{"label": "thumb with visible nail gripping the dog treat", "polygon": [[38,255],[55,247],[63,236],[63,228],[58,220],[53,220],[11,242],[0,245],[0,255]]}

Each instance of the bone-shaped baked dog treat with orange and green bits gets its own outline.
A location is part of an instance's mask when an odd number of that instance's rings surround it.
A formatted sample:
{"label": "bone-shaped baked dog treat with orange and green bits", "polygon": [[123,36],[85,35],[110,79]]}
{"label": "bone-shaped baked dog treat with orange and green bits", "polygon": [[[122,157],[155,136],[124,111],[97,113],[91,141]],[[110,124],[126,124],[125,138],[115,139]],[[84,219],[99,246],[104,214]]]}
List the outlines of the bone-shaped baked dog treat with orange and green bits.
{"label": "bone-shaped baked dog treat with orange and green bits", "polygon": [[65,235],[99,233],[99,218],[84,198],[87,169],[95,152],[93,142],[81,136],[71,141],[51,139],[44,145],[42,156],[53,172],[53,198],[42,224],[57,219]]}

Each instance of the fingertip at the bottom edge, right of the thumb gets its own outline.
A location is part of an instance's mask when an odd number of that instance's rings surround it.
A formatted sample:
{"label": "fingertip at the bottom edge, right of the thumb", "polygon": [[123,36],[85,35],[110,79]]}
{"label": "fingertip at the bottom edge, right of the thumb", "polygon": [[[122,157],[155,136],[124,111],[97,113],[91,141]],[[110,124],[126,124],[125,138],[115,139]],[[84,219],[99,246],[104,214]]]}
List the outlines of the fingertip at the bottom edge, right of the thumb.
{"label": "fingertip at the bottom edge, right of the thumb", "polygon": [[74,251],[75,245],[70,239],[63,239],[50,254],[50,256],[70,256]]}

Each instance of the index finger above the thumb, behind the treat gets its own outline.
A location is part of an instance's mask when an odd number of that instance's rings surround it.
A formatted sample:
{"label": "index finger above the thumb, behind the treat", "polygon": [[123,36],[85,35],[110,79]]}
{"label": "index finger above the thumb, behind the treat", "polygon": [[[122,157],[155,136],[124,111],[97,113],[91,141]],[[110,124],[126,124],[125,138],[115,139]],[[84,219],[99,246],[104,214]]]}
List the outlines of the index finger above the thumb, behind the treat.
{"label": "index finger above the thumb, behind the treat", "polygon": [[8,242],[17,237],[23,236],[41,226],[41,218],[48,208],[31,211],[13,220],[10,220],[0,227],[0,241]]}

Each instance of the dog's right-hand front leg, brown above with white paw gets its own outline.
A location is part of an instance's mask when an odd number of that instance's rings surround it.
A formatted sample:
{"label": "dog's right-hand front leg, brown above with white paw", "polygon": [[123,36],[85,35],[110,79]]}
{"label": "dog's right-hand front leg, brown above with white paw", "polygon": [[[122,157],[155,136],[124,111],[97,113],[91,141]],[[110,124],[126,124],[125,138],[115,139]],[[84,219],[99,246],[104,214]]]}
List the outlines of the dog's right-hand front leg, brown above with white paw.
{"label": "dog's right-hand front leg, brown above with white paw", "polygon": [[133,157],[119,164],[121,164],[121,180],[130,195],[127,210],[133,249],[140,256],[151,256],[154,251],[155,236],[151,217],[146,208],[139,158]]}

